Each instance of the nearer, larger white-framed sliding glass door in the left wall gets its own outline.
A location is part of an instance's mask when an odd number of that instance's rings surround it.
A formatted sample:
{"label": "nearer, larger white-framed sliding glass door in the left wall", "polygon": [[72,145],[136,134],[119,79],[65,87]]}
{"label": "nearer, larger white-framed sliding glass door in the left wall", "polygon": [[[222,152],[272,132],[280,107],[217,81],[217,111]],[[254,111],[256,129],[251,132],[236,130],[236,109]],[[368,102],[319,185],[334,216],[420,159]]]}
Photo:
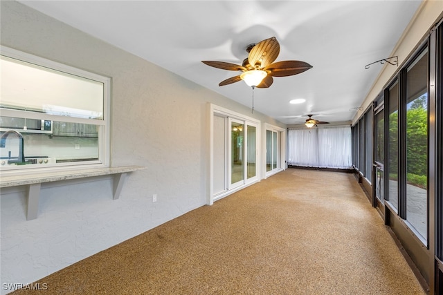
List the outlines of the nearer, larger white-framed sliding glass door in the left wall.
{"label": "nearer, larger white-framed sliding glass door in the left wall", "polygon": [[210,105],[207,204],[260,179],[260,121]]}

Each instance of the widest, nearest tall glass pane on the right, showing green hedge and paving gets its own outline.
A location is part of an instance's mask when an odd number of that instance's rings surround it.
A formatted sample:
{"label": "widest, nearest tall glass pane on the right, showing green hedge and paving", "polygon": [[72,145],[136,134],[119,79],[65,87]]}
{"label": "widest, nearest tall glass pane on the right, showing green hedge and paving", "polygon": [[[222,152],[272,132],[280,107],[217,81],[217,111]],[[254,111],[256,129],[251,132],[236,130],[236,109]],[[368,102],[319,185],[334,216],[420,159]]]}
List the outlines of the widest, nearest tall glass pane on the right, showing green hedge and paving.
{"label": "widest, nearest tall glass pane on the right, showing green hedge and paving", "polygon": [[428,52],[406,74],[406,220],[427,239]]}

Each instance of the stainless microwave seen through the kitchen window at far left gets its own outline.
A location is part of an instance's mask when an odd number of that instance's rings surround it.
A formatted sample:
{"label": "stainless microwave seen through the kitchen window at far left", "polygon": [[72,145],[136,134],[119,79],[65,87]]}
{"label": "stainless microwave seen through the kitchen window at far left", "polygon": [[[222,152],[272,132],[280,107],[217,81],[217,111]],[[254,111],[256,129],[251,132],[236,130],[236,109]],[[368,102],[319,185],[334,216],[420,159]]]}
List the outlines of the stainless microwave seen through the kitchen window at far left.
{"label": "stainless microwave seen through the kitchen window at far left", "polygon": [[51,120],[0,116],[0,131],[8,130],[15,130],[20,133],[53,134],[53,122]]}

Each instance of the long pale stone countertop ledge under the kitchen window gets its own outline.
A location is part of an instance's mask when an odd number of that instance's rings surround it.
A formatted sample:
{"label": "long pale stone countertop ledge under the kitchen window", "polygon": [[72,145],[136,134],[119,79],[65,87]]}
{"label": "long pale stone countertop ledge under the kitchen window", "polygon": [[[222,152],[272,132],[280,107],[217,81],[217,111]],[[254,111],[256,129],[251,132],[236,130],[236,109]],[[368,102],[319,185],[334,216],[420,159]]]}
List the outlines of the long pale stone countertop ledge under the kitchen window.
{"label": "long pale stone countertop ledge under the kitchen window", "polygon": [[71,171],[51,171],[26,175],[0,176],[1,187],[18,187],[20,185],[37,184],[43,182],[55,182],[61,180],[71,180],[78,178],[89,178],[93,176],[112,175],[119,173],[129,173],[143,170],[143,166],[117,166],[104,168],[78,169]]}

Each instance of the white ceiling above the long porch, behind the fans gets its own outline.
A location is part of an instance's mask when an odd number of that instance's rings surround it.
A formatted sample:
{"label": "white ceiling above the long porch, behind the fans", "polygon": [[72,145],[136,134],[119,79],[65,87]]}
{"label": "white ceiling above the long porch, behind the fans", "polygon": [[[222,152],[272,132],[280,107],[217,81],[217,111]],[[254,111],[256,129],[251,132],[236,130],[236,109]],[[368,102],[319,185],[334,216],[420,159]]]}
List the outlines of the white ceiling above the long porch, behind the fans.
{"label": "white ceiling above the long porch, behind the fans", "polygon": [[[313,68],[255,88],[255,110],[285,124],[352,120],[421,1],[19,1],[201,86],[251,106],[236,72],[202,60],[242,64],[246,46],[277,37],[275,61]],[[289,104],[304,98],[304,104]]]}

